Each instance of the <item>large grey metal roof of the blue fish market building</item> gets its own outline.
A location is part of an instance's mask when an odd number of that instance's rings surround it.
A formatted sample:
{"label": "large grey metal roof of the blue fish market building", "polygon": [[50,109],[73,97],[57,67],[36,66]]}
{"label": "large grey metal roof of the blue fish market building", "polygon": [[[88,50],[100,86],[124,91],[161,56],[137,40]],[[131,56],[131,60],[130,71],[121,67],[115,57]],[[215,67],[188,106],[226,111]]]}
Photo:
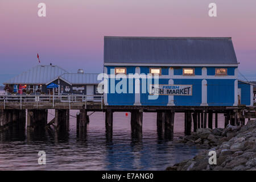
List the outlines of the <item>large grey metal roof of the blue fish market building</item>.
{"label": "large grey metal roof of the blue fish market building", "polygon": [[104,37],[104,63],[237,64],[231,38]]}

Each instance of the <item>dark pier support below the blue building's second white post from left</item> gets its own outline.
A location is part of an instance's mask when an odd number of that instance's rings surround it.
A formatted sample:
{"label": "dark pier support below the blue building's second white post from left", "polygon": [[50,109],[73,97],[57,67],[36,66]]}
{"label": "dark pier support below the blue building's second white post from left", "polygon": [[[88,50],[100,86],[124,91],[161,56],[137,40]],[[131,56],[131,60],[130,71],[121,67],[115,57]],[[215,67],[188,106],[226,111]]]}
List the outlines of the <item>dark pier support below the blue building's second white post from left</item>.
{"label": "dark pier support below the blue building's second white post from left", "polygon": [[143,110],[131,111],[131,133],[135,137],[142,137]]}

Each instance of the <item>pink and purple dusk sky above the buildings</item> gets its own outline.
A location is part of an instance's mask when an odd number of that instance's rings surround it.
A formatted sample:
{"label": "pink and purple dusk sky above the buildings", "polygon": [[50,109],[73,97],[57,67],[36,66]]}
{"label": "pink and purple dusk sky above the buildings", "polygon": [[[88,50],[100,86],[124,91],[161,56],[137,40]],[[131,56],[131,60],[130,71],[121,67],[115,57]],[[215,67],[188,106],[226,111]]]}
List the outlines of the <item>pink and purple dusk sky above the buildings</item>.
{"label": "pink and purple dusk sky above the buildings", "polygon": [[256,81],[255,20],[255,0],[1,0],[0,85],[38,65],[36,53],[44,65],[100,73],[107,35],[232,37],[240,72]]}

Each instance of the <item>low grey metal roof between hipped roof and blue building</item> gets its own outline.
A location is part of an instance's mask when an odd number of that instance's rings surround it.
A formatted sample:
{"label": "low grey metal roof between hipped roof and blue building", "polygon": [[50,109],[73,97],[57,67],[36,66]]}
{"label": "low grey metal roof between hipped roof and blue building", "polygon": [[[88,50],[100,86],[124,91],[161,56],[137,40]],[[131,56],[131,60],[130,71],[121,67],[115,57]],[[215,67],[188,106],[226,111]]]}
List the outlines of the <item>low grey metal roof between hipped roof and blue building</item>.
{"label": "low grey metal roof between hipped roof and blue building", "polygon": [[101,80],[97,80],[98,73],[64,73],[60,76],[70,84],[98,84]]}

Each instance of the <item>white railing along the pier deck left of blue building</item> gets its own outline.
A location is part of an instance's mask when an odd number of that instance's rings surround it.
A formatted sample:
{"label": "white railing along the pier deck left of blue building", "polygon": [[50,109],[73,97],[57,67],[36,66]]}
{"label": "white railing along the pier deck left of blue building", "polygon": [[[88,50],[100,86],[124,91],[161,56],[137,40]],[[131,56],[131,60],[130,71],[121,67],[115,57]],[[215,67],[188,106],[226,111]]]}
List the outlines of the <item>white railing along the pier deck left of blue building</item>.
{"label": "white railing along the pier deck left of blue building", "polygon": [[85,108],[88,102],[99,102],[101,108],[103,107],[103,95],[81,95],[81,94],[60,94],[60,95],[50,95],[50,94],[2,94],[0,95],[0,102],[2,102],[4,108],[8,104],[19,103],[20,109],[24,103],[52,103],[54,107],[57,102],[63,102],[69,104],[72,103],[84,103]]}

